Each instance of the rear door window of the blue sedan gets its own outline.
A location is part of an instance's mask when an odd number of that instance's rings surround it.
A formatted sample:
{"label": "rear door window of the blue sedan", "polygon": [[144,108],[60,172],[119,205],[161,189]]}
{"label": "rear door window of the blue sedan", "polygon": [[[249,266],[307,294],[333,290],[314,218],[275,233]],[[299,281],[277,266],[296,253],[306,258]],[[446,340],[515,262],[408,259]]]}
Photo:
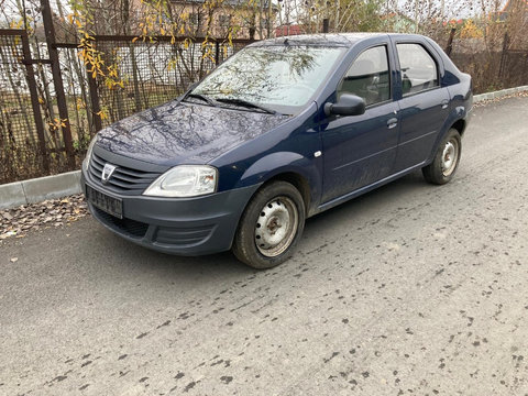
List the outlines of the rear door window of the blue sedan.
{"label": "rear door window of the blue sedan", "polygon": [[437,87],[438,68],[435,59],[420,44],[397,44],[404,95]]}

